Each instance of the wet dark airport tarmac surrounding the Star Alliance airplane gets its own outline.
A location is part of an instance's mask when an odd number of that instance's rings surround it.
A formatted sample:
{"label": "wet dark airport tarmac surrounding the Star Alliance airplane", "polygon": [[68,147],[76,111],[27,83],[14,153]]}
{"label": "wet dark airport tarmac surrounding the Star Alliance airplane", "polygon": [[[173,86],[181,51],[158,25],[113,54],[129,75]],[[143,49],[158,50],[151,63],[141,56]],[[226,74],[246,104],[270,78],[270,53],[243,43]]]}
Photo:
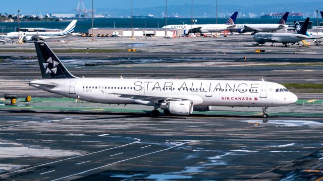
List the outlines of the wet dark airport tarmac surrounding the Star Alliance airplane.
{"label": "wet dark airport tarmac surrounding the Star Alliance airplane", "polygon": [[[49,46],[138,49],[57,53],[79,77],[323,79],[321,46],[259,48],[245,35],[68,41]],[[3,180],[323,180],[321,93],[296,93],[295,105],[268,108],[265,120],[261,108],[228,107],[155,119],[147,117],[150,107],[75,102],[29,86],[41,76],[33,49],[32,43],[0,45],[0,96],[20,98],[18,106],[0,101]],[[32,101],[25,103],[25,96]]]}

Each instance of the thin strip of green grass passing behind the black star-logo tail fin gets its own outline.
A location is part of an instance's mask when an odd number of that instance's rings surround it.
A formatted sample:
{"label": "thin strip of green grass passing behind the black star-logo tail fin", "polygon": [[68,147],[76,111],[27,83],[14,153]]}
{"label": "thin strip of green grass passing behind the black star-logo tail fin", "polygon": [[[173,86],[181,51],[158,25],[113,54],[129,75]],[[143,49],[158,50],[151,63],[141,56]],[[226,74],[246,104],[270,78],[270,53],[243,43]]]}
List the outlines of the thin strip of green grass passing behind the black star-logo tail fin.
{"label": "thin strip of green grass passing behind the black star-logo tail fin", "polygon": [[[126,52],[127,49],[57,49],[56,53],[120,53]],[[34,49],[0,49],[0,52],[16,52],[16,53],[34,53]]]}

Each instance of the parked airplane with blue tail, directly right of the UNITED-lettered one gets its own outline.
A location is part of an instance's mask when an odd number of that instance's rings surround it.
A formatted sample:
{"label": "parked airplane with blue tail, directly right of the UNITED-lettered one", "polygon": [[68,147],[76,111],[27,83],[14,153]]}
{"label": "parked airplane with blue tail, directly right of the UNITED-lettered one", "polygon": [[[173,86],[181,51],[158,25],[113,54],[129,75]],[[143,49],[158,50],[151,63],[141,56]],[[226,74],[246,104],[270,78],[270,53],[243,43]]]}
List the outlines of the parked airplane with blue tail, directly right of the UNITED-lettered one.
{"label": "parked airplane with blue tail, directly right of the UNITED-lettered one", "polygon": [[289,12],[286,12],[278,24],[241,24],[236,25],[236,27],[230,28],[229,30],[238,33],[252,32],[252,34],[258,32],[274,32],[288,27],[288,25],[286,25],[288,14]]}

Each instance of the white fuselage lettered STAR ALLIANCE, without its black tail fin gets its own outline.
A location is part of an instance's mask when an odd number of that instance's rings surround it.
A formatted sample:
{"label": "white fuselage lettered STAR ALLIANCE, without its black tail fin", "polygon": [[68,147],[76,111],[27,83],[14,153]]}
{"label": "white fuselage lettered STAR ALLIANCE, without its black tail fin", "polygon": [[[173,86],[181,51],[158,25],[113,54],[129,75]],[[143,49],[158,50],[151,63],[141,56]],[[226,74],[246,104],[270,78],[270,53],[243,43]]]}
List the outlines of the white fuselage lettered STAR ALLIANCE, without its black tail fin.
{"label": "white fuselage lettered STAR ALLIANCE, without its black tail fin", "polygon": [[[275,107],[297,101],[278,83],[202,79],[41,79],[30,85],[62,96],[104,104],[153,106],[153,98],[190,100],[194,106]],[[136,95],[136,96],[127,96]],[[150,99],[142,100],[140,97]]]}

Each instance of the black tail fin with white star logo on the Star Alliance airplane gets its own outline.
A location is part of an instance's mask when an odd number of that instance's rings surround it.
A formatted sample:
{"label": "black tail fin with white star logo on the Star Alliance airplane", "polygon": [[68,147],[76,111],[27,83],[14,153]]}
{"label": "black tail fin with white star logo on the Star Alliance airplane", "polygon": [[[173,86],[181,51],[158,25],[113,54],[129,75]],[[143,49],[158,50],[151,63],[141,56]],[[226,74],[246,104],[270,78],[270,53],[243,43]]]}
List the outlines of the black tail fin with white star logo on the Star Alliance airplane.
{"label": "black tail fin with white star logo on the Star Alliance airplane", "polygon": [[72,75],[61,60],[49,48],[45,42],[35,41],[41,76],[47,78],[77,78]]}

